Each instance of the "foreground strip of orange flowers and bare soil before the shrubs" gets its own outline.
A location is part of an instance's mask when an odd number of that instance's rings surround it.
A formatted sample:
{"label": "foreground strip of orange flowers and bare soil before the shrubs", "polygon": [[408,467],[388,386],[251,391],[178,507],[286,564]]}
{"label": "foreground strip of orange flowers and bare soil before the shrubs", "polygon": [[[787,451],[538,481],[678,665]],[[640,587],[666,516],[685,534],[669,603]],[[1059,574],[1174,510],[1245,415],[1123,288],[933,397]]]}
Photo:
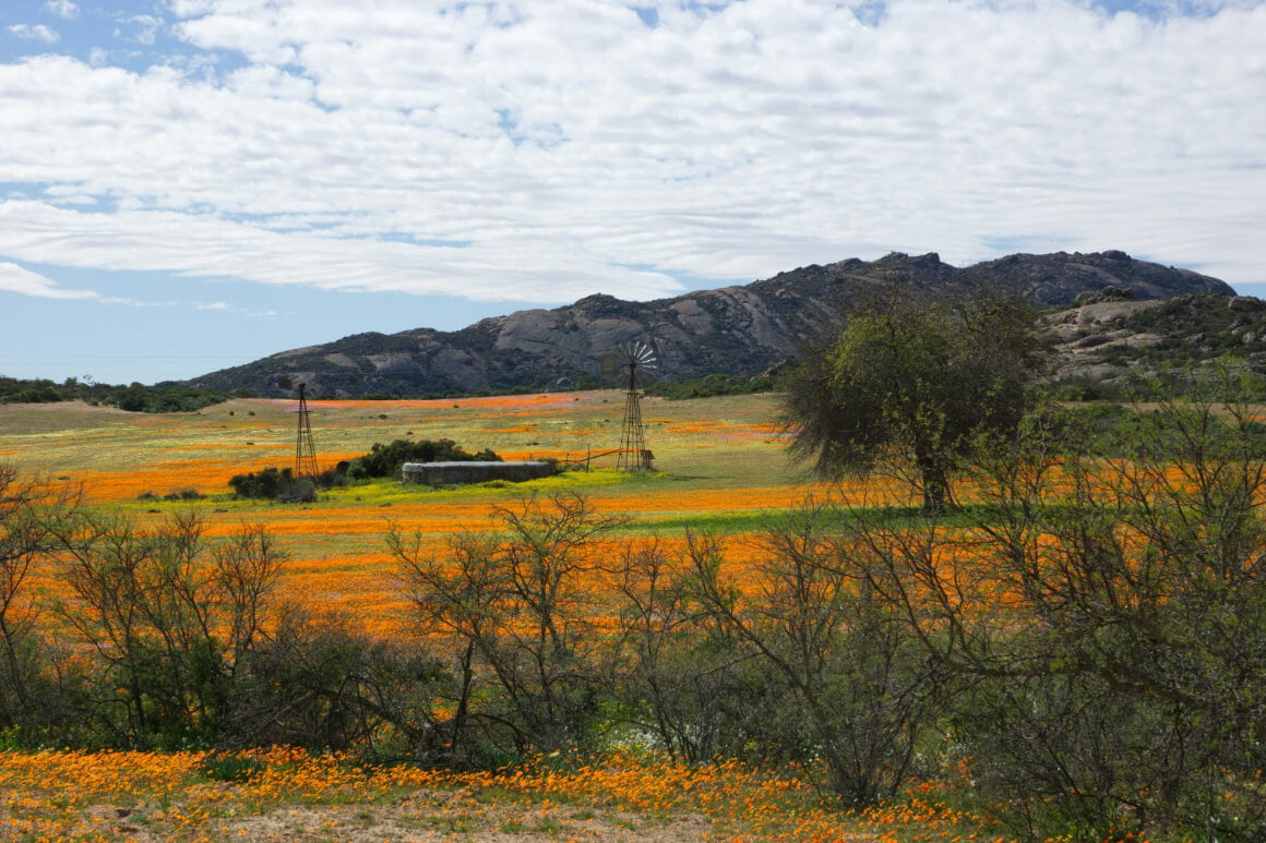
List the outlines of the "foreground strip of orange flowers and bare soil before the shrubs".
{"label": "foreground strip of orange flowers and bare soil before the shrubs", "polygon": [[981,818],[936,789],[846,816],[795,777],[736,762],[611,753],[454,773],[281,748],[232,757],[51,751],[5,753],[3,762],[5,840],[1003,839],[977,837]]}

